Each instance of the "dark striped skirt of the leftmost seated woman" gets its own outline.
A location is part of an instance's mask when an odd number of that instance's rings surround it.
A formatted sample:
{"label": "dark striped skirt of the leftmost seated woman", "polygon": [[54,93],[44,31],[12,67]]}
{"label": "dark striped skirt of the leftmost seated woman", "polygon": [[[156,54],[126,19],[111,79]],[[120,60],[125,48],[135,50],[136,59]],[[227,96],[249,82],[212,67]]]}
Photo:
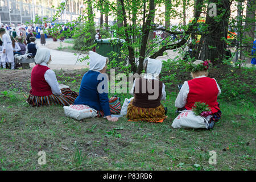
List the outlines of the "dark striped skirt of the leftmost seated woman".
{"label": "dark striped skirt of the leftmost seated woman", "polygon": [[27,102],[32,106],[46,106],[46,105],[62,105],[62,106],[69,106],[72,105],[78,94],[72,91],[69,88],[61,89],[60,96],[49,95],[49,96],[33,96],[30,94],[28,96]]}

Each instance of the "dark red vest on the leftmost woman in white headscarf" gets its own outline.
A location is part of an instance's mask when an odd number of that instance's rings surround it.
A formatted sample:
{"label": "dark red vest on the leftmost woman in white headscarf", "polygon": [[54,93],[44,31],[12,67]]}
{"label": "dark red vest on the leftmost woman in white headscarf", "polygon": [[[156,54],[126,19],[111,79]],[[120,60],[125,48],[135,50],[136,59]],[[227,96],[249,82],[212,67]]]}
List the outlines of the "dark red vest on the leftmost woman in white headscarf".
{"label": "dark red vest on the leftmost woman in white headscarf", "polygon": [[52,95],[51,86],[44,79],[44,73],[49,68],[42,65],[35,65],[31,71],[31,90],[30,93],[33,96],[49,96]]}

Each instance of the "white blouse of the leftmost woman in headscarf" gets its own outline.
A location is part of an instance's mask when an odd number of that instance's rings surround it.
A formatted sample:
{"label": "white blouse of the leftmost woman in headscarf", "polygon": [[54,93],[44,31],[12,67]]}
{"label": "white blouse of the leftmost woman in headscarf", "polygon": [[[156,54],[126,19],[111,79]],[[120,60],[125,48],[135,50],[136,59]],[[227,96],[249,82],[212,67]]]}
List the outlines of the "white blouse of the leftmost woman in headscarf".
{"label": "white blouse of the leftmost woman in headscarf", "polygon": [[[47,63],[44,62],[40,63],[40,65],[48,67]],[[49,84],[49,86],[51,86],[52,93],[55,96],[60,96],[60,85],[57,81],[55,72],[53,72],[51,69],[48,69],[46,73],[44,73],[44,79],[46,79],[46,82]]]}

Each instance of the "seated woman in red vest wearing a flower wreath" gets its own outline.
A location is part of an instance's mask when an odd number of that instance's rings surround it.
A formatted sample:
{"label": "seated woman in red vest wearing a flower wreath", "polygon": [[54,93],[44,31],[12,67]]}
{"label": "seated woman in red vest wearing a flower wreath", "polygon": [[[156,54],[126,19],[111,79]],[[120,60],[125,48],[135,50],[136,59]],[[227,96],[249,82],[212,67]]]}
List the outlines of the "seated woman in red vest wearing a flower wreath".
{"label": "seated woman in red vest wearing a flower wreath", "polygon": [[185,81],[176,98],[175,106],[178,110],[191,110],[195,102],[205,102],[209,105],[213,117],[210,118],[209,128],[221,118],[220,104],[217,96],[221,94],[220,86],[214,78],[209,78],[210,61],[196,60],[189,64],[192,80]]}

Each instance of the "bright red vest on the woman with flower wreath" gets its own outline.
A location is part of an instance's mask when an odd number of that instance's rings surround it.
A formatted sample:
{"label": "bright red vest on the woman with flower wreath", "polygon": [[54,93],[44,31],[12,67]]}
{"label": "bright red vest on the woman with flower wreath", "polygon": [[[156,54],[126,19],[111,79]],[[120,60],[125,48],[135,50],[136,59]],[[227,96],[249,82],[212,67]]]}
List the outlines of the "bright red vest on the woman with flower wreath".
{"label": "bright red vest on the woman with flower wreath", "polygon": [[185,108],[190,110],[195,102],[205,102],[212,109],[212,113],[216,113],[220,108],[218,107],[217,95],[218,87],[213,78],[203,77],[195,78],[188,81],[189,93],[187,97],[187,104]]}

